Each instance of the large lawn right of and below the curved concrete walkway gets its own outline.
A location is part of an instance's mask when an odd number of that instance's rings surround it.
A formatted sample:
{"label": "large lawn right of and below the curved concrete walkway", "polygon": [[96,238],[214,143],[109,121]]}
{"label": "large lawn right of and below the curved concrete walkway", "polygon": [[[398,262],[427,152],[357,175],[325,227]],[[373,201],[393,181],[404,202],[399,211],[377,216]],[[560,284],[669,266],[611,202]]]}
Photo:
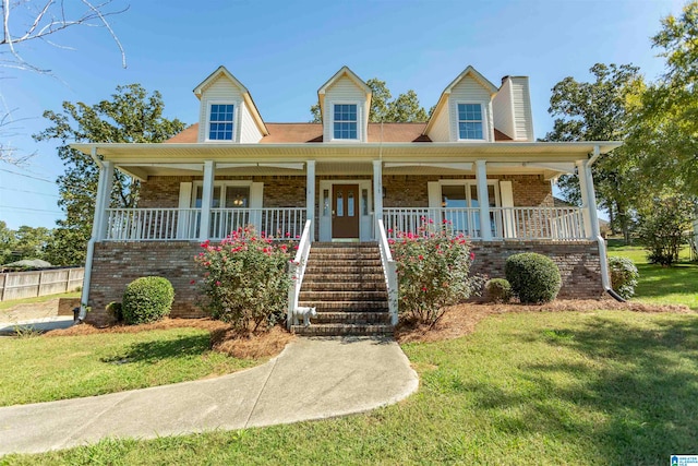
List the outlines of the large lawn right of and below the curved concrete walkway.
{"label": "large lawn right of and below the curved concrete walkway", "polygon": [[696,451],[696,314],[503,314],[467,337],[404,349],[419,392],[370,414],[5,462],[648,465]]}

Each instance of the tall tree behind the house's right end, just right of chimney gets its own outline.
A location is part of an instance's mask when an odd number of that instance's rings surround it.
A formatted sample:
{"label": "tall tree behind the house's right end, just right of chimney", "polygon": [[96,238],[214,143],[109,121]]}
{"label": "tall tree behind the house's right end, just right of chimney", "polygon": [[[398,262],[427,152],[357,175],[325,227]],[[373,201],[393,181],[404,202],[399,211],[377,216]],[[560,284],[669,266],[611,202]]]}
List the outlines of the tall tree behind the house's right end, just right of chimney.
{"label": "tall tree behind the house's right end, just right of chimney", "polygon": [[[643,86],[639,68],[631,64],[597,63],[589,70],[593,82],[578,82],[565,77],[553,87],[547,111],[557,117],[545,141],[618,141],[627,131],[628,101]],[[621,147],[602,156],[592,167],[599,205],[609,212],[611,226],[629,236],[631,225],[631,193],[635,183],[633,153]],[[576,175],[558,180],[563,196],[581,203]]]}

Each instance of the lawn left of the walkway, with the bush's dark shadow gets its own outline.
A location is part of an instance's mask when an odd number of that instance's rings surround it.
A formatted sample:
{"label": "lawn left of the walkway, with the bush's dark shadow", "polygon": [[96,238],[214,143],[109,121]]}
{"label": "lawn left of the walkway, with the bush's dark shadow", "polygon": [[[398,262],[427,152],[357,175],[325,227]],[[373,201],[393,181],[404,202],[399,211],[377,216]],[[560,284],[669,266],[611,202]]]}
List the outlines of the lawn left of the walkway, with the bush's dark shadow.
{"label": "lawn left of the walkway, with the bush's dark shadow", "polygon": [[209,333],[0,338],[0,406],[100,395],[234,372],[258,361],[212,351]]}

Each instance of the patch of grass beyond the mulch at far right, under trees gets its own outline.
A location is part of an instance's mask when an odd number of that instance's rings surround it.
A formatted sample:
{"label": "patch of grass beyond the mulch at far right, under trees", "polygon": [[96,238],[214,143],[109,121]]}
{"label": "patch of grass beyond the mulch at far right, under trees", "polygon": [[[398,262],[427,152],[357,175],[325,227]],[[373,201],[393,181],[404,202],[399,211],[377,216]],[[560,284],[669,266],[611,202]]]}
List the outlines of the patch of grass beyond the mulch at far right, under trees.
{"label": "patch of grass beyond the mulch at far right, under trees", "polygon": [[673,267],[648,263],[646,249],[623,246],[619,240],[609,240],[609,255],[628,258],[637,266],[640,278],[633,299],[657,304],[685,304],[698,310],[698,263],[688,262],[688,248],[681,252],[683,262]]}

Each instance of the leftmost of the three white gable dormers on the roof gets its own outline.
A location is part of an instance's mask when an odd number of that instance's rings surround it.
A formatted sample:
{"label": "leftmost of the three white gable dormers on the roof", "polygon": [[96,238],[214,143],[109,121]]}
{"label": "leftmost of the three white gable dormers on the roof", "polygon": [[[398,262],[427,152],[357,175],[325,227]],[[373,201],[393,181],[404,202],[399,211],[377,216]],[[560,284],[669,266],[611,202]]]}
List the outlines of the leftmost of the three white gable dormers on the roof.
{"label": "leftmost of the three white gable dormers on the roof", "polygon": [[201,101],[198,142],[256,143],[269,132],[245,86],[218,67],[194,88]]}

